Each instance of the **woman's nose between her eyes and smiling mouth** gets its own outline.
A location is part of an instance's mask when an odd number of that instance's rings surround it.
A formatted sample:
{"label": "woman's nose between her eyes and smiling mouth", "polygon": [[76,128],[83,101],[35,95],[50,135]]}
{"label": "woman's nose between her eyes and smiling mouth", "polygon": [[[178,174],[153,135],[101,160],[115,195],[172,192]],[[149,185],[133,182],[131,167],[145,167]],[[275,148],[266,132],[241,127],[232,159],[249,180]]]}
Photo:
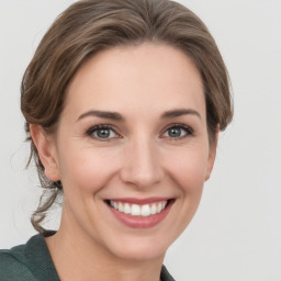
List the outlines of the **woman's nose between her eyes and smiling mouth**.
{"label": "woman's nose between her eyes and smiling mouth", "polygon": [[131,142],[124,153],[121,178],[136,188],[151,188],[164,178],[160,154],[149,139]]}

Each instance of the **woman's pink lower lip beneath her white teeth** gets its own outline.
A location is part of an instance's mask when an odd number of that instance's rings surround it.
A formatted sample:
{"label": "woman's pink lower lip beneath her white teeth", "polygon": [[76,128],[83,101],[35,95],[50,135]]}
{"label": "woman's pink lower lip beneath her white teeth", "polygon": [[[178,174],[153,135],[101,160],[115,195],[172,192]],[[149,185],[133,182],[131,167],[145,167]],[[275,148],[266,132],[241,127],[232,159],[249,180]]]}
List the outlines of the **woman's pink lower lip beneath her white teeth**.
{"label": "woman's pink lower lip beneath her white teeth", "polygon": [[169,202],[169,204],[160,213],[150,216],[132,216],[125,213],[121,213],[114,207],[109,207],[115,217],[124,225],[132,228],[149,228],[164,221],[164,218],[168,215],[172,204],[173,201]]}

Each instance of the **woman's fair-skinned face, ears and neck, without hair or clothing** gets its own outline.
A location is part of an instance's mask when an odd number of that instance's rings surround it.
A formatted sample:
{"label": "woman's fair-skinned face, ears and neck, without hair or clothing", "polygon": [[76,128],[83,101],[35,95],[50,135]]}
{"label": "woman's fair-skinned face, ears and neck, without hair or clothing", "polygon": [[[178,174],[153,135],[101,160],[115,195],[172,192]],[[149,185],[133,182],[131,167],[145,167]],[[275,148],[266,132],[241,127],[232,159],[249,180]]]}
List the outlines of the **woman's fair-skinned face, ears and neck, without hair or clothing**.
{"label": "woman's fair-skinned face, ears and neck, without hair or clothing", "polygon": [[60,279],[158,281],[215,158],[192,60],[164,44],[101,52],[71,80],[56,133],[31,134],[64,187],[59,231],[46,238]]}

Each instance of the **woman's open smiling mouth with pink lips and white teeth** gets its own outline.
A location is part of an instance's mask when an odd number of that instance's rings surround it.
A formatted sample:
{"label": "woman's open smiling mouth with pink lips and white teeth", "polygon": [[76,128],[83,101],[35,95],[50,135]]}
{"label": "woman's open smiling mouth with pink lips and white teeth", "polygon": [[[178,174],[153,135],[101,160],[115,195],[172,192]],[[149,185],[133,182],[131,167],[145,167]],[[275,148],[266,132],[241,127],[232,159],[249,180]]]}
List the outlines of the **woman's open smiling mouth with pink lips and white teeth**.
{"label": "woman's open smiling mouth with pink lips and white teeth", "polygon": [[153,227],[169,213],[175,199],[112,199],[105,200],[115,217],[133,228]]}

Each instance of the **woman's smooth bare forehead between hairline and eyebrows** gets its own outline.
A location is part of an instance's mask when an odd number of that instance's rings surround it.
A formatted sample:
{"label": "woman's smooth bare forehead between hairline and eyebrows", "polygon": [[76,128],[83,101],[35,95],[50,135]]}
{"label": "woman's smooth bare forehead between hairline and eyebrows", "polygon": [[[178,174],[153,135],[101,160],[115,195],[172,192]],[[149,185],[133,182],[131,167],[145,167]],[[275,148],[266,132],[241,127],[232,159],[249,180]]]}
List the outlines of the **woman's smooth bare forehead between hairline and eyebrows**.
{"label": "woman's smooth bare forehead between hairline and eyebrows", "polygon": [[193,61],[181,50],[146,43],[121,46],[88,59],[71,80],[66,110],[154,112],[204,108],[203,85]]}

